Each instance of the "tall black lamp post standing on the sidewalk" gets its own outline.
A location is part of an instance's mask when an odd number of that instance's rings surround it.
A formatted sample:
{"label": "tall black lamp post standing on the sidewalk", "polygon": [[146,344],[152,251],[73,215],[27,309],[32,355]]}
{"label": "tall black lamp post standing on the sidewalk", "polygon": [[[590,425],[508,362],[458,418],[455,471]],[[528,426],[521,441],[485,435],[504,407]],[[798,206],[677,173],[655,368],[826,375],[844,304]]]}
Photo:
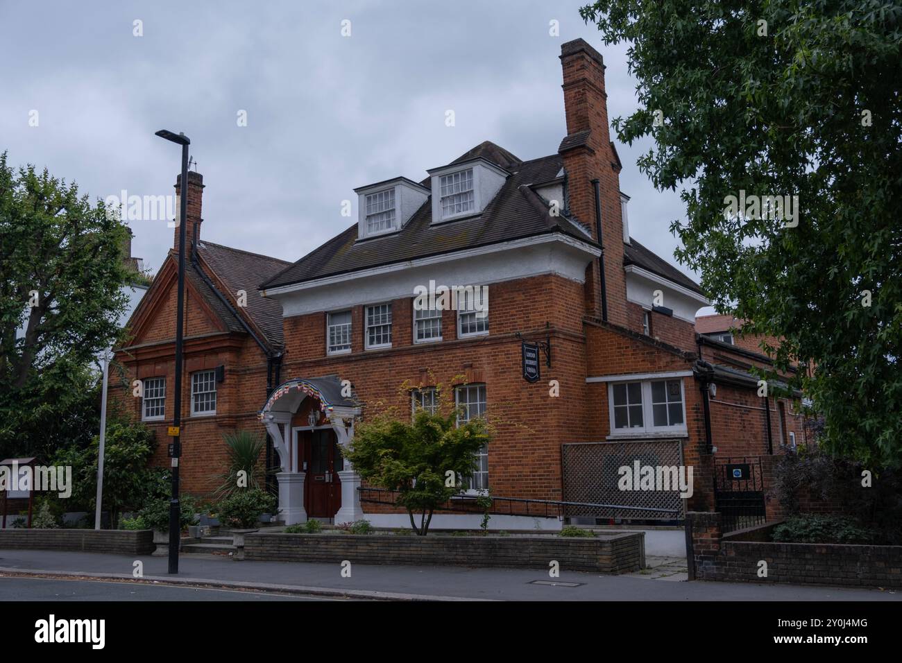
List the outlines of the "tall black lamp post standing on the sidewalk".
{"label": "tall black lamp post standing on the sidewalk", "polygon": [[170,574],[179,573],[179,457],[181,457],[181,364],[182,325],[185,319],[185,218],[188,209],[188,146],[191,144],[185,134],[175,134],[161,129],[155,135],[181,145],[181,181],[179,186],[179,304],[176,313],[175,330],[175,415],[172,418],[170,437],[170,457],[172,458],[172,499],[170,500]]}

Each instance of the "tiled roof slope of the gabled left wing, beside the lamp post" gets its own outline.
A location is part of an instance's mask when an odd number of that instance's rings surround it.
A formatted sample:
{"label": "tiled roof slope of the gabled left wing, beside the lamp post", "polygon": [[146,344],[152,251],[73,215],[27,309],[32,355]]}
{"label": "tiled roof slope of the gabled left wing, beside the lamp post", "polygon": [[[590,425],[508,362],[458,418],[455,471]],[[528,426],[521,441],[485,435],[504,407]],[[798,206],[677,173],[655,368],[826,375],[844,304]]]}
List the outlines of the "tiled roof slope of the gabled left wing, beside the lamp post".
{"label": "tiled roof slope of the gabled left wing, beside the lamp post", "polygon": [[[206,240],[201,240],[198,244],[198,253],[215,272],[216,277],[226,285],[229,290],[227,293],[229,301],[235,302],[238,290],[244,290],[247,293],[247,306],[240,309],[241,312],[251,318],[253,324],[260,328],[271,347],[281,347],[284,341],[281,304],[275,299],[261,297],[258,289],[262,281],[271,278],[273,274],[285,269],[291,263],[271,258],[268,255],[214,244]],[[198,281],[201,281],[199,276]],[[203,285],[206,290],[201,290],[202,292],[209,290],[206,283]],[[220,308],[225,311],[224,321],[231,318],[235,324],[240,326],[241,323],[234,319],[235,316],[216,297],[215,293],[209,292],[209,294],[210,297],[207,299],[211,305],[214,305],[214,300],[216,300],[217,312],[221,312]]]}

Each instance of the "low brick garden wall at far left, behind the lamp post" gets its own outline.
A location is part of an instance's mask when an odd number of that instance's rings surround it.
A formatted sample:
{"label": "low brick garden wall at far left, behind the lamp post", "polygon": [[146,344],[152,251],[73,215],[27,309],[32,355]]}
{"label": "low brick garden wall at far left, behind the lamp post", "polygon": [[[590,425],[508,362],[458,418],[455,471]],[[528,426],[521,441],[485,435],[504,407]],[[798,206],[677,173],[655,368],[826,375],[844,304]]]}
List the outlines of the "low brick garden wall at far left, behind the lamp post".
{"label": "low brick garden wall at far left, behind the lamp post", "polygon": [[152,529],[0,529],[0,549],[79,550],[150,555]]}

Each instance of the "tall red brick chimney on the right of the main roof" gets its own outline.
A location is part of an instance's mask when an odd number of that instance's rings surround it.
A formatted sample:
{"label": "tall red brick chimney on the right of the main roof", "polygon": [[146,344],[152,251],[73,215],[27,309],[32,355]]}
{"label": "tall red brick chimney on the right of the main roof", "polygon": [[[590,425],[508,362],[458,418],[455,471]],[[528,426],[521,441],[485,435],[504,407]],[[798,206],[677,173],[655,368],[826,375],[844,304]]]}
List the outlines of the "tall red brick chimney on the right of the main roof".
{"label": "tall red brick chimney on the right of the main roof", "polygon": [[[608,320],[628,327],[626,277],[623,272],[620,159],[611,143],[602,55],[582,39],[561,46],[564,70],[566,138],[558,152],[564,160],[570,210],[597,241],[595,193],[599,180],[604,249],[604,290]],[[602,317],[599,261],[586,269],[586,313]]]}

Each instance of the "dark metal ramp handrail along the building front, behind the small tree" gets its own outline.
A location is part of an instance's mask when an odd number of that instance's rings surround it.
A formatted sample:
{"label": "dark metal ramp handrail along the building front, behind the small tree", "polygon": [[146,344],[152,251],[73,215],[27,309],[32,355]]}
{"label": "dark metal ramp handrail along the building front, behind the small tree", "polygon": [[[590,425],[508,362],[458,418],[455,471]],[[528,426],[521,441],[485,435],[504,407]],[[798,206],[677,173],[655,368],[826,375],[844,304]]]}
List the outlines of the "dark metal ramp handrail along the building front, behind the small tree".
{"label": "dark metal ramp handrail along the building front, behind the small tree", "polygon": [[[361,502],[370,502],[375,504],[397,505],[397,498],[400,493],[389,491],[384,488],[373,488],[370,486],[360,486],[357,488],[361,493]],[[376,497],[367,497],[367,494],[375,493]],[[388,495],[389,499],[382,499],[382,495]],[[443,502],[436,507],[436,511],[456,511],[461,513],[483,513],[483,507],[476,503],[479,495],[455,495],[447,502]],[[594,502],[561,502],[557,500],[535,500],[526,497],[497,497],[491,496],[492,506],[488,512],[494,515],[506,516],[529,516],[532,518],[563,518],[566,516],[567,507],[588,507],[598,510],[612,511],[640,511],[643,513],[670,513],[674,518],[679,518],[681,511],[678,509],[658,509],[655,507],[639,507],[626,506],[623,504],[598,504]],[[506,508],[503,508],[505,507]],[[535,511],[531,511],[534,508]],[[550,512],[549,512],[550,511]]]}

